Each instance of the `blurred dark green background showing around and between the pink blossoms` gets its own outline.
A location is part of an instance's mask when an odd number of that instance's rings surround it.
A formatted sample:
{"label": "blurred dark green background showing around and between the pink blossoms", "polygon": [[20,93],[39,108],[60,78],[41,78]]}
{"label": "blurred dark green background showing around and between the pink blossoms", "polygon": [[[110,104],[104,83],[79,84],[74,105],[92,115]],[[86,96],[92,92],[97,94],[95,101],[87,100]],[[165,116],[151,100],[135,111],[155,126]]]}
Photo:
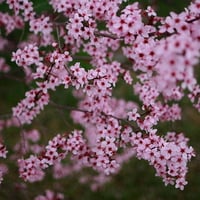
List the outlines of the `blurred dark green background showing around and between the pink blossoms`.
{"label": "blurred dark green background showing around and between the pink blossoms", "polygon": [[[34,0],[34,7],[38,13],[46,9],[51,10],[48,6],[48,1]],[[134,1],[127,1],[128,3]],[[170,11],[180,12],[185,6],[189,4],[187,0],[149,0],[140,1],[141,5],[156,5],[158,13],[166,16]],[[0,7],[0,10],[6,11],[6,6]],[[9,39],[15,41],[21,37],[26,37],[26,32],[21,30],[10,34]],[[0,52],[0,57],[5,57],[8,64],[12,67],[11,76],[18,79],[23,78],[22,70],[15,64],[10,62],[10,56],[7,52]],[[196,74],[199,74],[199,70]],[[20,80],[15,80],[12,77],[5,77],[0,74],[0,117],[3,118],[5,114],[11,113],[11,108],[15,106],[22,98],[24,98],[25,91],[29,90],[31,86],[25,85]],[[131,97],[131,88],[118,87],[117,95],[127,95],[126,99]],[[75,99],[71,95],[71,90],[64,90],[62,87],[58,88],[57,92],[51,93],[52,99],[60,104],[72,105],[76,104]],[[80,174],[70,175],[63,179],[54,180],[51,175],[51,169],[47,170],[48,175],[44,181],[33,184],[27,184],[26,189],[23,186],[19,187],[22,180],[18,177],[18,168],[11,161],[6,161],[9,165],[9,173],[5,175],[3,183],[0,185],[0,200],[4,199],[33,199],[38,194],[44,193],[45,189],[52,189],[56,192],[61,192],[65,195],[65,199],[69,200],[198,200],[200,199],[200,115],[192,107],[189,101],[185,98],[181,102],[183,107],[183,120],[175,123],[164,123],[159,127],[161,134],[168,130],[175,129],[177,132],[184,132],[186,137],[190,138],[189,144],[194,147],[196,157],[189,163],[189,172],[187,175],[188,185],[184,191],[175,189],[173,186],[165,187],[159,177],[155,177],[155,170],[143,160],[132,158],[130,162],[126,163],[120,173],[113,177],[112,181],[105,184],[98,191],[91,191],[88,185],[83,185],[78,182]],[[172,128],[173,127],[173,128]],[[38,128],[42,134],[43,144],[47,143],[48,139],[52,138],[57,133],[63,133],[74,129],[74,125],[70,120],[68,112],[61,112],[47,106],[33,124],[24,126],[24,129]],[[21,128],[8,128],[1,132],[1,137],[5,141],[10,150],[8,156],[12,155],[13,145],[19,141],[21,137]],[[4,163],[0,159],[0,163]]]}

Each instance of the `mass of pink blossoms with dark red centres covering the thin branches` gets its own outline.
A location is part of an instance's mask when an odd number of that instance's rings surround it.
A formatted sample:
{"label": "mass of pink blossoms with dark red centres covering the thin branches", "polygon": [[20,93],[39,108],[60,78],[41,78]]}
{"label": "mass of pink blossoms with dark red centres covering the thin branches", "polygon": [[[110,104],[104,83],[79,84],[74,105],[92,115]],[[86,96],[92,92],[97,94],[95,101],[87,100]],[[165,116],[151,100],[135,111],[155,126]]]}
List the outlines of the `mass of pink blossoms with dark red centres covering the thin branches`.
{"label": "mass of pink blossoms with dark red centres covering the thin branches", "polygon": [[[49,104],[71,111],[74,123],[84,130],[58,134],[44,151],[38,147],[29,158],[19,158],[20,177],[35,182],[44,178],[49,166],[55,178],[90,167],[98,175],[80,181],[90,182],[95,189],[136,156],[147,160],[166,185],[183,190],[194,150],[182,133],[159,136],[157,125],[181,120],[179,103],[184,97],[200,111],[195,76],[200,58],[200,1],[167,17],[157,16],[150,6],[141,9],[139,3],[120,8],[122,0],[51,0],[53,14],[40,16],[31,1],[6,2],[14,14],[0,13],[5,34],[25,24],[30,33],[12,52],[12,61],[23,68],[28,83],[36,85],[13,107],[12,119],[17,123],[10,126],[31,124]],[[104,28],[99,28],[100,21],[105,22]],[[140,103],[115,96],[122,82],[132,87],[132,97],[137,96]],[[56,92],[58,86],[73,89],[76,108],[51,101],[50,91]],[[61,162],[67,155],[69,165]]]}

